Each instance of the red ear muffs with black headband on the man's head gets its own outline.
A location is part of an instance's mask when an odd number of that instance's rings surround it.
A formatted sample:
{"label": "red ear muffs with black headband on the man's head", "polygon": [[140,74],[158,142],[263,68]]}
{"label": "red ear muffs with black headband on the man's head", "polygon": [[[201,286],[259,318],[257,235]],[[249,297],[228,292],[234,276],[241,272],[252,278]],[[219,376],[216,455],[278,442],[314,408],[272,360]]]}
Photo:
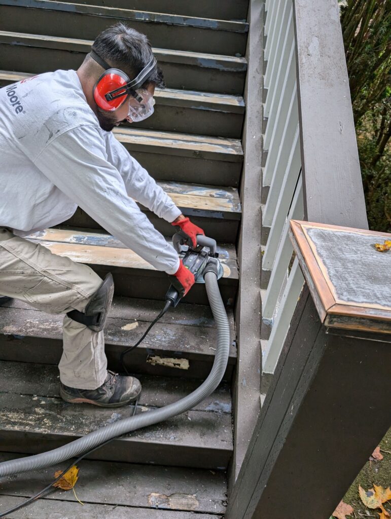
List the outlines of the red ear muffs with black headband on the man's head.
{"label": "red ear muffs with black headband on the man's head", "polygon": [[142,71],[131,80],[122,70],[113,69],[108,65],[95,50],[91,49],[90,56],[105,69],[93,87],[93,99],[102,110],[106,112],[117,110],[125,103],[128,95],[132,95],[139,103],[142,102],[143,98],[136,90],[145,83],[155,69],[157,63],[155,56],[152,56]]}

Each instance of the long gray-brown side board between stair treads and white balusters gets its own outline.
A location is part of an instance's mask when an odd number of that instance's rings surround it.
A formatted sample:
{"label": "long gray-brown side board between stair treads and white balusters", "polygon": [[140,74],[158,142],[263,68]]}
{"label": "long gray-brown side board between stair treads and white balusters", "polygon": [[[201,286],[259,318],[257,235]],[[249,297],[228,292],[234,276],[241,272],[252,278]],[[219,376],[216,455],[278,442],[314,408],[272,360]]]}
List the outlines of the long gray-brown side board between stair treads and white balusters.
{"label": "long gray-brown side board between stair treads and white balusters", "polygon": [[260,411],[261,389],[261,154],[263,2],[251,0],[245,100],[242,220],[238,244],[239,292],[235,310],[238,363],[234,385],[235,438],[229,487],[233,487]]}

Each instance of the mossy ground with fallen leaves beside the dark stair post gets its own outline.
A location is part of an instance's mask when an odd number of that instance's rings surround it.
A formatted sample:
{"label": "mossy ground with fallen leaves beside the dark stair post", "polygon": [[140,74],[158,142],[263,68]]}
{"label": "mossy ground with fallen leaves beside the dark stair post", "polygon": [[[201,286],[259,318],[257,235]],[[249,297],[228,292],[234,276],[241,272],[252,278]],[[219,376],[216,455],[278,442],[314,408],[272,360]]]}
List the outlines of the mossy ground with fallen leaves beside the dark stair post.
{"label": "mossy ground with fallen leaves beside the dark stair post", "polygon": [[[387,488],[391,486],[391,428],[380,443],[381,454],[384,458],[381,461],[367,461],[349,488],[343,500],[353,507],[353,514],[347,518],[362,519],[375,517],[379,519],[380,509],[366,508],[358,495],[358,485],[364,490],[372,488],[373,484]],[[384,503],[384,508],[391,515],[391,501]],[[331,519],[331,518],[330,518]]]}

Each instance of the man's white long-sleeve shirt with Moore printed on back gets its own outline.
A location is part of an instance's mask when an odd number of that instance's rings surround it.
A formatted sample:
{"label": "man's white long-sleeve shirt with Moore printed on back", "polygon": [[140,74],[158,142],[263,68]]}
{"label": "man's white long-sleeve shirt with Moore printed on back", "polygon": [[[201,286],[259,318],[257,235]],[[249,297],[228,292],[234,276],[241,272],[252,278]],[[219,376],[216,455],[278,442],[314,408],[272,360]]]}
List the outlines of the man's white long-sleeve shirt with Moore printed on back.
{"label": "man's white long-sleeve shirt with Moore printed on back", "polygon": [[19,236],[58,225],[79,206],[156,269],[179,268],[134,200],[168,222],[181,211],[100,128],[73,70],[0,89],[0,186],[0,227]]}

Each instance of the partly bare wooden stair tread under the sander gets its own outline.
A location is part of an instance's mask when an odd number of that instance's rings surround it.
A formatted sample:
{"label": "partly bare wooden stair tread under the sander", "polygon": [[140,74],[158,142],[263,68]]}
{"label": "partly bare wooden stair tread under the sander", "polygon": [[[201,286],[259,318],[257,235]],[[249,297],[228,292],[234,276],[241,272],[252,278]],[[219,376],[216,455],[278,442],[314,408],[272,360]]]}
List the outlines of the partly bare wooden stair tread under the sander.
{"label": "partly bare wooden stair tread under the sander", "polygon": [[[110,245],[94,245],[91,243],[93,242],[93,236],[90,240],[83,239],[83,236],[90,234],[93,233],[82,233],[82,231],[74,233],[73,230],[65,229],[44,229],[26,238],[38,241],[53,254],[68,256],[78,263],[156,270],[155,267],[131,249],[111,247]],[[55,237],[55,240],[51,240],[51,236]],[[76,239],[79,237],[79,243],[75,243],[75,236]],[[222,258],[221,264],[224,270],[223,278],[238,279],[236,258]]]}

